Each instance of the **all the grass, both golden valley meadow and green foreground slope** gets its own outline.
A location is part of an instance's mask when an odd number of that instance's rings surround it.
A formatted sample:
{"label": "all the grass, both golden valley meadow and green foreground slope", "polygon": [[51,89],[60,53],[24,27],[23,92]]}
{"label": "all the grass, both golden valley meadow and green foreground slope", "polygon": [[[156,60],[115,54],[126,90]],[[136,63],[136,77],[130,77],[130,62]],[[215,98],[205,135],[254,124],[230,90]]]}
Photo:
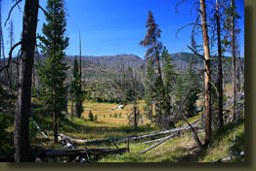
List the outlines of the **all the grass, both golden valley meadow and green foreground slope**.
{"label": "all the grass, both golden valley meadow and green foreground slope", "polygon": [[[3,94],[5,95],[5,94]],[[97,121],[90,121],[87,118],[88,110],[85,110],[83,118],[72,118],[63,121],[61,132],[77,139],[100,140],[108,138],[128,137],[134,135],[148,134],[160,131],[160,128],[146,120],[144,124],[139,125],[138,129],[134,129],[133,125],[129,125],[126,120],[125,113],[129,114],[132,105],[126,105],[124,109],[112,111],[118,104],[111,103],[95,103],[84,102],[84,106],[90,108],[94,115],[98,116]],[[140,109],[143,109],[144,102],[140,102]],[[114,118],[114,114],[121,114],[122,117]],[[112,115],[112,118],[109,118]],[[188,119],[190,122],[197,120],[201,115],[197,115]],[[51,116],[34,114],[33,119],[41,126],[43,130],[53,132],[53,120]],[[176,123],[176,126],[187,125],[184,120]],[[236,140],[234,142],[234,153],[244,151],[244,120],[240,119],[239,124],[235,127],[235,123],[228,123],[222,129],[217,129],[212,133],[212,143],[210,150],[199,150],[195,147],[191,132],[183,133],[179,137],[172,138],[146,154],[135,156],[154,144],[143,144],[140,141],[130,141],[130,153],[108,155],[100,158],[99,162],[209,162],[219,158],[227,157],[230,153],[234,132],[236,130]],[[13,125],[6,128],[7,137],[5,142],[13,142],[10,132],[13,132]],[[31,140],[31,149],[33,151],[40,150],[57,150],[63,149],[63,145],[54,144],[54,137],[48,134],[50,141],[47,141],[40,133]],[[203,142],[204,134],[199,133],[201,142]],[[13,144],[7,143],[5,149],[8,152],[14,152]],[[83,145],[73,144],[76,149],[84,149]],[[126,147],[126,142],[117,143],[119,148]],[[87,148],[113,148],[113,144],[96,144],[88,145]],[[233,161],[241,161],[237,158]]]}

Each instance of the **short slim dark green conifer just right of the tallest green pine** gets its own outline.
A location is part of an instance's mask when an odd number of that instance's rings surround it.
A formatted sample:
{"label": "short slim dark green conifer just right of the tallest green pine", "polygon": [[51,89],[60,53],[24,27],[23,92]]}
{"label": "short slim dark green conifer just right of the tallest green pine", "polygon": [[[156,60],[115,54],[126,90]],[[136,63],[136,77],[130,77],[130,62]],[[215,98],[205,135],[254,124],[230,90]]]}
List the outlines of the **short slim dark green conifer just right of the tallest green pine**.
{"label": "short slim dark green conifer just right of the tallest green pine", "polygon": [[80,76],[78,71],[78,61],[77,56],[74,58],[73,70],[72,70],[73,80],[71,81],[71,100],[75,103],[75,116],[81,118],[83,112],[82,107],[82,93],[80,88]]}

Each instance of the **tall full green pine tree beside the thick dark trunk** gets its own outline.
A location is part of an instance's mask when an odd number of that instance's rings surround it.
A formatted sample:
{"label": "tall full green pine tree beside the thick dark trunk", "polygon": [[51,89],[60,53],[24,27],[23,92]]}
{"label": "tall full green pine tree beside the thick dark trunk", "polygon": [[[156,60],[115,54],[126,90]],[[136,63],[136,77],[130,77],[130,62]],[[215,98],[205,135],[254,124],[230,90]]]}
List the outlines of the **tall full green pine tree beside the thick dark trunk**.
{"label": "tall full green pine tree beside the thick dark trunk", "polygon": [[68,46],[68,38],[64,36],[66,19],[62,0],[48,0],[46,20],[40,37],[40,45],[46,59],[39,65],[41,82],[40,101],[53,115],[55,143],[58,142],[58,129],[66,109],[66,87],[64,86],[65,71],[64,50]]}

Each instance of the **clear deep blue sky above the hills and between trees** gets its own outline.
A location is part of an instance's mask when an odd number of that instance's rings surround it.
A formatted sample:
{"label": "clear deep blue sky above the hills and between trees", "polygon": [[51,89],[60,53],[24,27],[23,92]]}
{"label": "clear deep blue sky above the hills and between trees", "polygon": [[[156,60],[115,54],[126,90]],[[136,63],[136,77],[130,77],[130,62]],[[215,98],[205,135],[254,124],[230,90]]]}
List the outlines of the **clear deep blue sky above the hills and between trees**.
{"label": "clear deep blue sky above the hills and between trees", "polygon": [[[192,27],[183,29],[176,37],[177,30],[195,21],[196,14],[192,10],[193,2],[188,0],[175,13],[175,6],[180,0],[65,0],[67,13],[66,36],[69,37],[69,46],[66,54],[79,53],[79,31],[82,37],[83,55],[113,55],[119,53],[136,54],[144,57],[146,49],[139,45],[147,33],[146,21],[149,10],[152,11],[155,22],[162,30],[160,41],[169,52],[189,51]],[[215,1],[214,1],[215,2]],[[47,0],[40,0],[45,7]],[[13,2],[2,0],[2,25],[6,51],[8,44],[8,24],[4,22]],[[241,52],[244,52],[244,2],[236,0],[237,12],[241,16],[238,20],[241,34],[239,43]],[[15,25],[15,40],[21,39],[22,10],[16,8],[11,16]],[[191,13],[192,12],[192,13]],[[37,33],[41,33],[45,17],[39,11]],[[198,37],[201,40],[201,37]],[[7,52],[6,52],[7,55]]]}

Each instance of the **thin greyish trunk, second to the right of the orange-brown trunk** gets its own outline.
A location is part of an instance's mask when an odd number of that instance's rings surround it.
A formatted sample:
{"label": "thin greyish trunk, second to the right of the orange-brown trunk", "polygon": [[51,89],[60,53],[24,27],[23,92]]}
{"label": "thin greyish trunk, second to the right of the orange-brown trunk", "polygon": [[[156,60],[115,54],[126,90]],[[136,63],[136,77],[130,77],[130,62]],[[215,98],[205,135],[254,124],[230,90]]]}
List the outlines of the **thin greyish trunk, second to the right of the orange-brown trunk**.
{"label": "thin greyish trunk, second to the right of the orange-brown trunk", "polygon": [[235,96],[236,96],[236,81],[235,81],[235,9],[234,9],[234,2],[231,1],[231,8],[232,8],[232,61],[233,61],[233,121],[235,120]]}

